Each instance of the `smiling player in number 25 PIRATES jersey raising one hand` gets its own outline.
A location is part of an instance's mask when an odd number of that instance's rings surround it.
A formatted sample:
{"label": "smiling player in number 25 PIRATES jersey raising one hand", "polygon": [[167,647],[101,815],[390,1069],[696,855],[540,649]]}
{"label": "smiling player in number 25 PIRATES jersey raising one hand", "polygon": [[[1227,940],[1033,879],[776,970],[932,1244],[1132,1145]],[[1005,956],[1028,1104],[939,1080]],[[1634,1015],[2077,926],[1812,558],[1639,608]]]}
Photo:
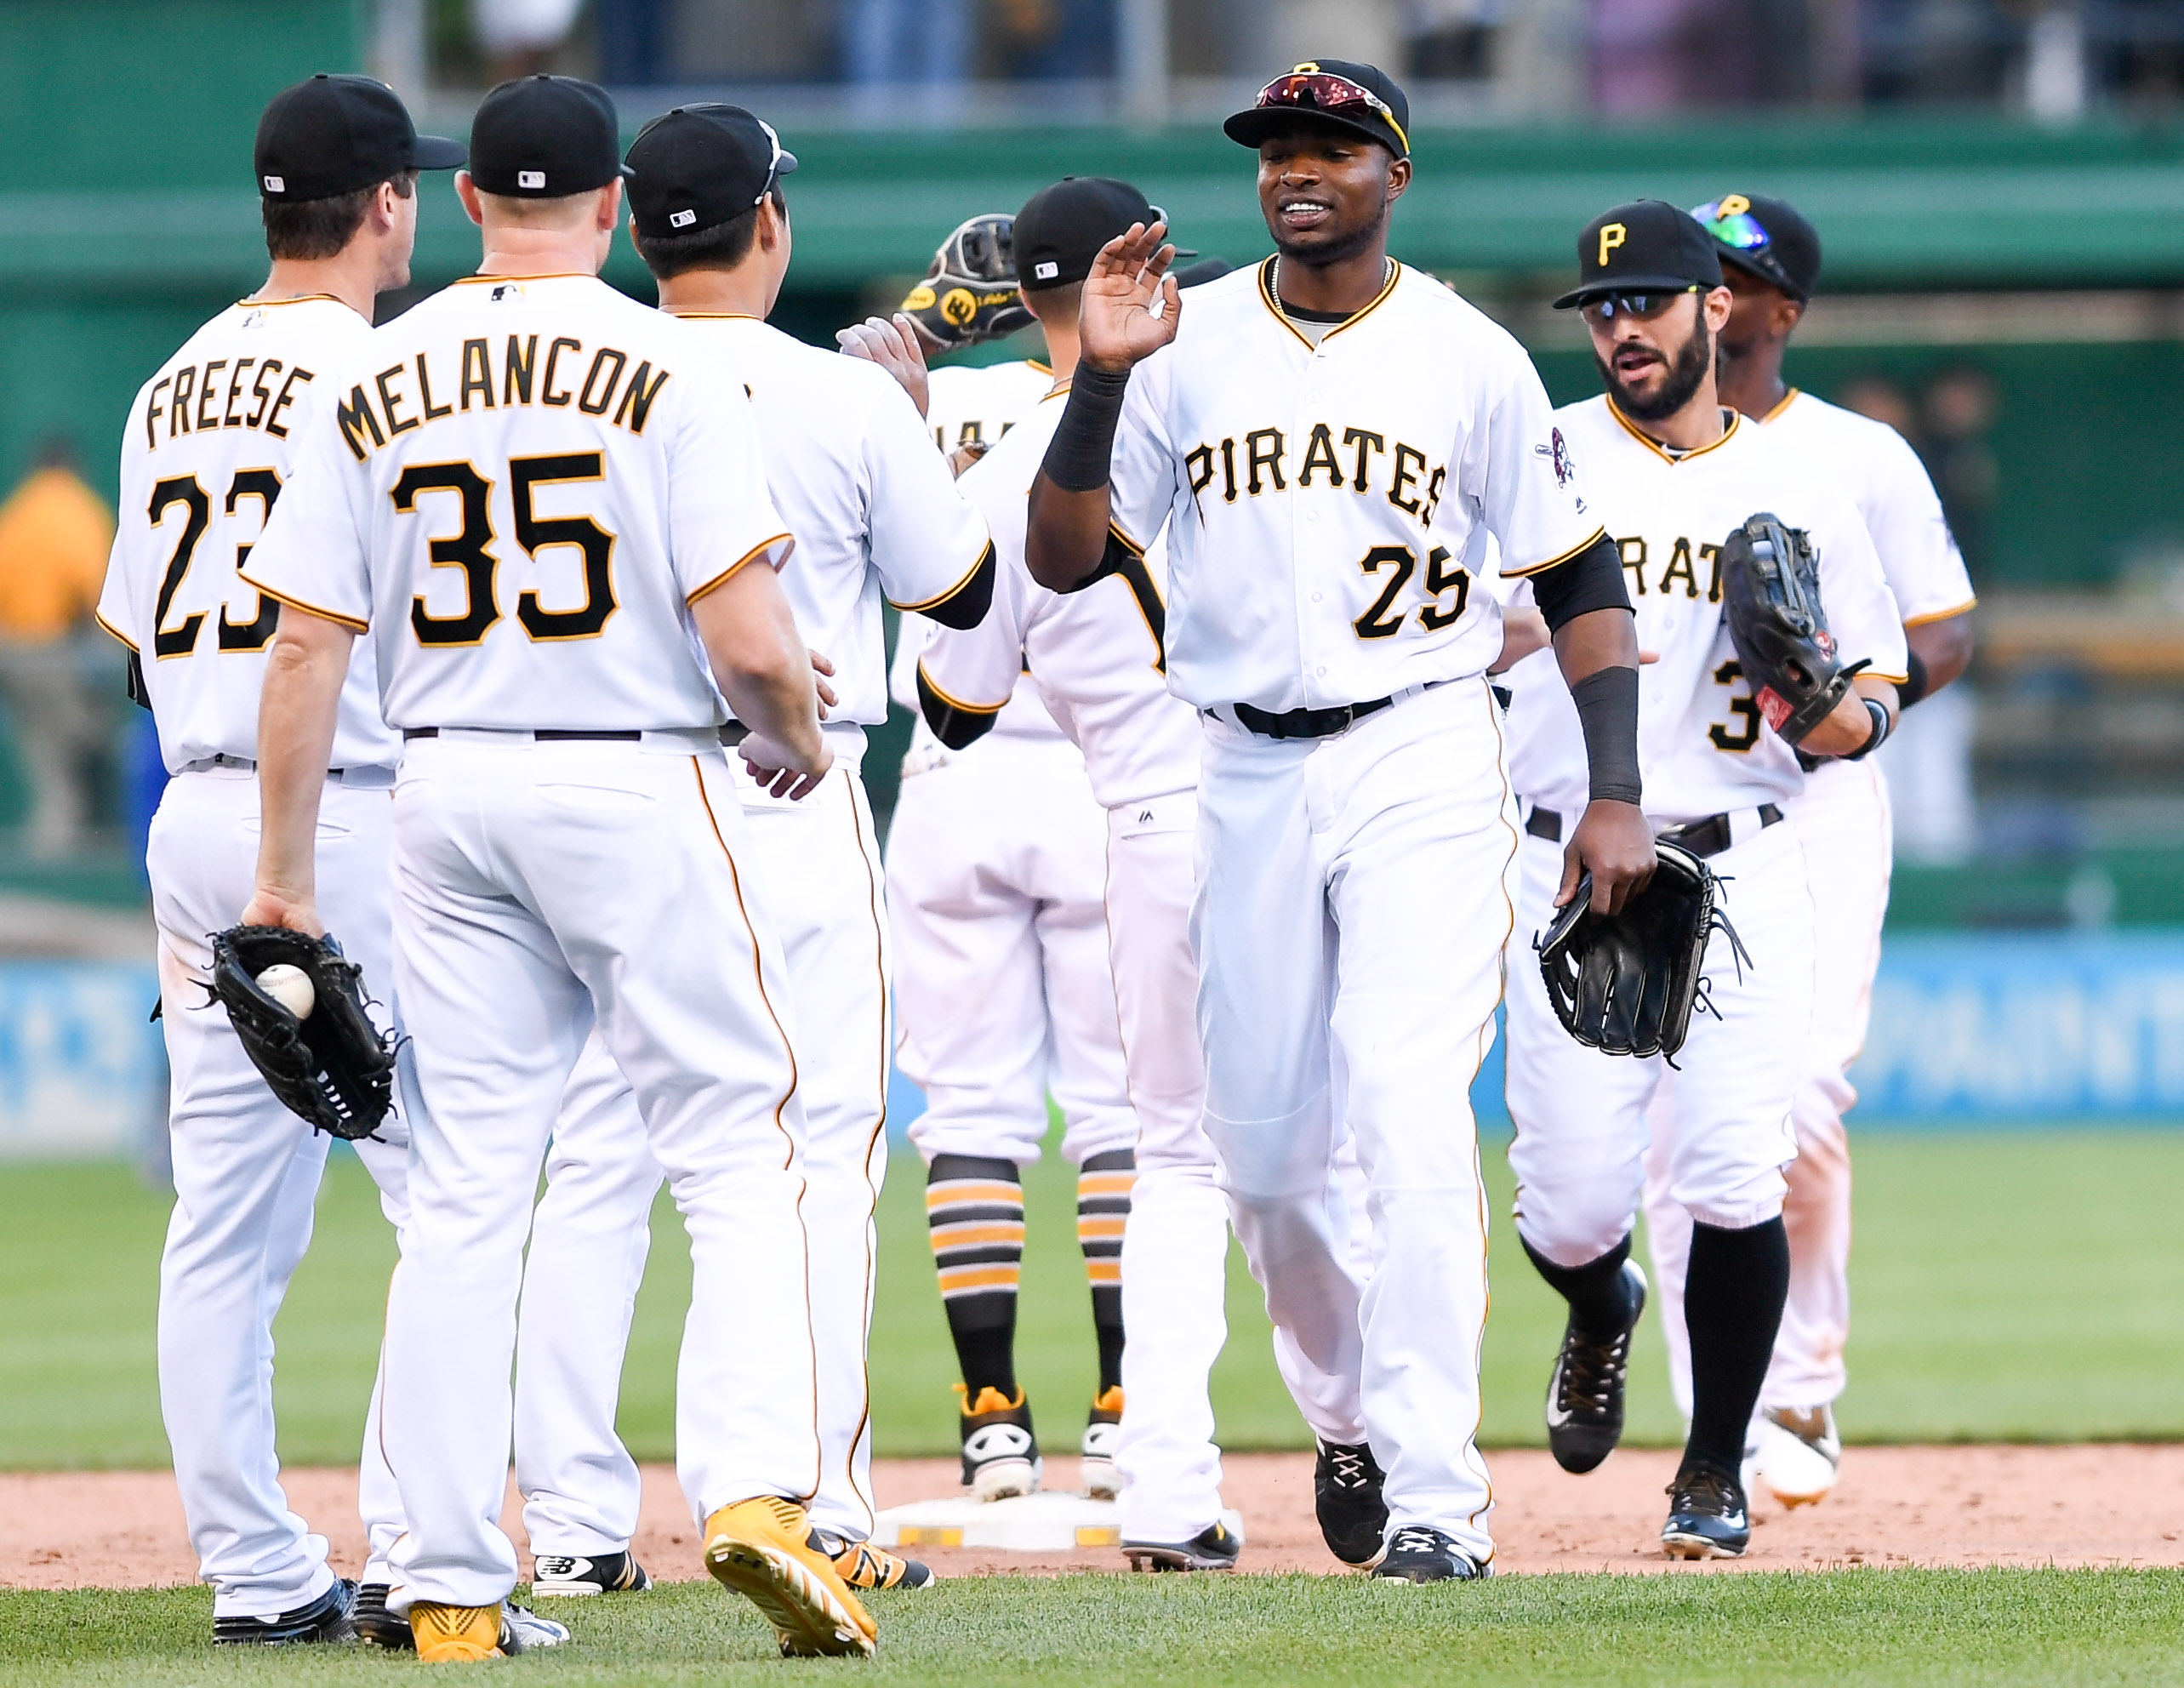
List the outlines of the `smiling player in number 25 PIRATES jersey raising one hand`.
{"label": "smiling player in number 25 PIRATES jersey raising one hand", "polygon": [[[1225,124],[1258,153],[1273,258],[1186,306],[1164,225],[1107,245],[1024,559],[1057,592],[1127,576],[1173,515],[1168,688],[1203,716],[1206,1129],[1275,1328],[1356,1391],[1354,1417],[1299,1402],[1330,1546],[1439,1581],[1494,1553],[1465,1096],[1516,856],[1485,681],[1503,642],[1489,535],[1533,576],[1590,723],[1568,882],[1590,869],[1618,906],[1653,849],[1623,570],[1551,450],[1540,378],[1387,258],[1406,122],[1385,72],[1297,66]],[[1345,1127],[1372,1192],[1365,1282],[1330,1179]]]}

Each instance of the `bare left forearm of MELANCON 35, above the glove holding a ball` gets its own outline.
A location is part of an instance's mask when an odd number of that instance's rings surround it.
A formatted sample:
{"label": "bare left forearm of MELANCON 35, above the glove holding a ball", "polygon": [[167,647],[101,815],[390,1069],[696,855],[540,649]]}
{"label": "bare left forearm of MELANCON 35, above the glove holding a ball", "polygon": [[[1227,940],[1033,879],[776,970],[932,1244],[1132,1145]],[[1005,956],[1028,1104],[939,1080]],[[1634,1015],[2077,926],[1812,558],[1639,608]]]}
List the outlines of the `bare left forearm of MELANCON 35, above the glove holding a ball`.
{"label": "bare left forearm of MELANCON 35, above the glove holding a ball", "polygon": [[325,616],[295,605],[280,611],[258,703],[258,884],[242,926],[325,937],[317,911],[319,793],[354,642],[352,629]]}

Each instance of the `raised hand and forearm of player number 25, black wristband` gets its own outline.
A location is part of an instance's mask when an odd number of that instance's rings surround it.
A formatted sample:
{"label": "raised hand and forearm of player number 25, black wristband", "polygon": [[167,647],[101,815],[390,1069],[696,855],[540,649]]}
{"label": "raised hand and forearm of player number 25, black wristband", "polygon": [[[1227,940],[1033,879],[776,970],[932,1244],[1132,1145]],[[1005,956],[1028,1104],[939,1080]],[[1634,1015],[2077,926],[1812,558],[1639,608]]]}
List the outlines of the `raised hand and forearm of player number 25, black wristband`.
{"label": "raised hand and forearm of player number 25, black wristband", "polygon": [[1101,247],[1083,284],[1070,402],[1031,483],[1024,531],[1024,566],[1051,592],[1083,585],[1107,555],[1107,465],[1129,371],[1175,338],[1184,310],[1166,234],[1166,223],[1131,223]]}

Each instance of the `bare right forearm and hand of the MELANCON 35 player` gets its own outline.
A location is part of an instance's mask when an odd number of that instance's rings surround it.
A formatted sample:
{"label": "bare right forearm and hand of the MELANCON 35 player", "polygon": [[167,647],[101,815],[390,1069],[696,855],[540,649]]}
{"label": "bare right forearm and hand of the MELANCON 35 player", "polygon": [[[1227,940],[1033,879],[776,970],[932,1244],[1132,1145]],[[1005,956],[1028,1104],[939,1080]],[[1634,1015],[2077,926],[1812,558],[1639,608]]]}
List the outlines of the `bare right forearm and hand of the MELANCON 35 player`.
{"label": "bare right forearm and hand of the MELANCON 35 player", "polygon": [[712,677],[749,727],[743,760],[775,797],[808,797],[834,764],[819,732],[812,653],[788,594],[749,561],[690,605]]}

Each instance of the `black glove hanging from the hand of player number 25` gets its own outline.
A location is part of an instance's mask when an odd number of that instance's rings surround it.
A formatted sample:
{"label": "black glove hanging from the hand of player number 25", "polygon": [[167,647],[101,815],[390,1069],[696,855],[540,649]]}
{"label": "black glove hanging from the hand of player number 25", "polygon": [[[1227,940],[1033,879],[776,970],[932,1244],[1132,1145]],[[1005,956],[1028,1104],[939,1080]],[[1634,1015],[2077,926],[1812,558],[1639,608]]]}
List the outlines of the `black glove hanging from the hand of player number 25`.
{"label": "black glove hanging from the hand of player number 25", "polygon": [[1714,926],[1745,950],[1721,913],[1712,869],[1675,843],[1655,843],[1660,867],[1621,915],[1592,913],[1592,876],[1533,948],[1546,1000],[1564,1031],[1603,1055],[1669,1055],[1684,1048],[1699,1000],[1699,967]]}

